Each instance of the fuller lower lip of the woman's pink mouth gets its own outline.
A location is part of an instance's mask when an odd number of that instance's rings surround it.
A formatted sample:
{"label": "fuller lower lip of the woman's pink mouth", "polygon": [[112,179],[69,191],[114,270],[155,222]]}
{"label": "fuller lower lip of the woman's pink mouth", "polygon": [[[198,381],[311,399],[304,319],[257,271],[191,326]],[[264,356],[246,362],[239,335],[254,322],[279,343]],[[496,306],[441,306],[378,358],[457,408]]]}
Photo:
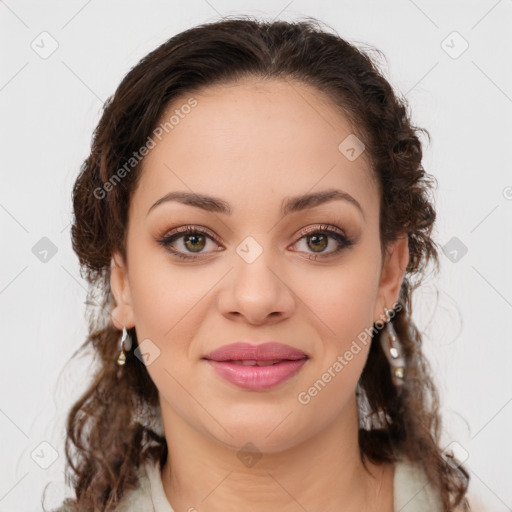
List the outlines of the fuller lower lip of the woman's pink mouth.
{"label": "fuller lower lip of the woman's pink mouth", "polygon": [[207,361],[224,379],[243,389],[262,391],[270,389],[297,373],[307,358],[296,361],[282,361],[269,366],[244,366],[226,361]]}

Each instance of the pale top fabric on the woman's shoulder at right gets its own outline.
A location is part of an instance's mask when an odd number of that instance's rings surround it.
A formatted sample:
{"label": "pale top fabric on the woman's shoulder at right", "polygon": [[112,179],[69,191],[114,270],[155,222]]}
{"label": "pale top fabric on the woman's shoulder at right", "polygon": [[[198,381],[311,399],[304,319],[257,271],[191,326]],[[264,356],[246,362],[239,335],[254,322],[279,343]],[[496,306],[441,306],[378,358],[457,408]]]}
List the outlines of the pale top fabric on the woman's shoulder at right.
{"label": "pale top fabric on the woman's shoulder at right", "polygon": [[442,502],[423,469],[407,459],[395,463],[394,509],[400,512],[438,512]]}

